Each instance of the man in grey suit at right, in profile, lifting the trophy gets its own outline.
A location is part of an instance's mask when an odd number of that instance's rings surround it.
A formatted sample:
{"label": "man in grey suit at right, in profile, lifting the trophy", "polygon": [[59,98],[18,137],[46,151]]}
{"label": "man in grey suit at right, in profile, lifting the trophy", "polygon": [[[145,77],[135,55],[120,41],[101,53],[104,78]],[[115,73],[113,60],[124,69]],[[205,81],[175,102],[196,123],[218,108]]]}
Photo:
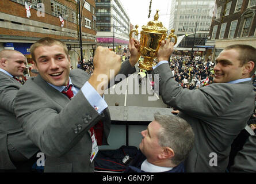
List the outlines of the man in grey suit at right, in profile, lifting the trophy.
{"label": "man in grey suit at right, in profile, lifting the trophy", "polygon": [[178,86],[167,60],[173,43],[162,41],[158,64],[159,91],[163,101],[180,112],[192,126],[195,143],[185,161],[187,172],[224,172],[231,144],[244,129],[254,110],[255,93],[251,76],[255,72],[256,49],[250,45],[231,45],[215,62],[212,85],[199,90]]}

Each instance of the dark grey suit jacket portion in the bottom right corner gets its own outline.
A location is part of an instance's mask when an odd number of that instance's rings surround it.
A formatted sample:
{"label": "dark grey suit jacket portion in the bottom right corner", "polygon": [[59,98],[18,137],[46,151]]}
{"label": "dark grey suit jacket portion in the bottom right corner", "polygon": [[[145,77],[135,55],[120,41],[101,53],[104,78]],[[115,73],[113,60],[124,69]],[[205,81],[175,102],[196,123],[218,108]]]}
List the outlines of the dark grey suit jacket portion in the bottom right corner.
{"label": "dark grey suit jacket portion in the bottom right corner", "polygon": [[231,172],[256,173],[256,135],[249,137],[235,157]]}

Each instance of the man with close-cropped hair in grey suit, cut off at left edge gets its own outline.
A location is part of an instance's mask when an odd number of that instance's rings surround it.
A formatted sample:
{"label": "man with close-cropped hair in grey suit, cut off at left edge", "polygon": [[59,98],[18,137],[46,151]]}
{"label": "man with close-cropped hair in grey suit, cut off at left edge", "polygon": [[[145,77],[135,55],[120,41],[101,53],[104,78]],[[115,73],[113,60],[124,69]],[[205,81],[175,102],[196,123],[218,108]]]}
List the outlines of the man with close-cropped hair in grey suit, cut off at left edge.
{"label": "man with close-cropped hair in grey suit, cut off at left edge", "polygon": [[[30,171],[39,151],[29,140],[14,114],[14,98],[22,86],[25,56],[14,50],[0,52],[0,170]],[[34,156],[34,157],[33,157]]]}

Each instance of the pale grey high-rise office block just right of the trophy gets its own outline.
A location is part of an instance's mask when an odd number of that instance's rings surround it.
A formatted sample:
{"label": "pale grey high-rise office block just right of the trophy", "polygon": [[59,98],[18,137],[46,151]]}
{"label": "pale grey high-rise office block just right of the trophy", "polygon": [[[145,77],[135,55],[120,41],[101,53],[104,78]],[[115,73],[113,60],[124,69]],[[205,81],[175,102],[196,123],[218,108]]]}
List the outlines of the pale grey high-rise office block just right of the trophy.
{"label": "pale grey high-rise office block just right of the trophy", "polygon": [[[211,26],[215,0],[173,0],[169,30],[175,28],[177,36],[186,35],[177,49],[192,51],[192,47],[205,45]],[[196,48],[204,51],[205,48]]]}

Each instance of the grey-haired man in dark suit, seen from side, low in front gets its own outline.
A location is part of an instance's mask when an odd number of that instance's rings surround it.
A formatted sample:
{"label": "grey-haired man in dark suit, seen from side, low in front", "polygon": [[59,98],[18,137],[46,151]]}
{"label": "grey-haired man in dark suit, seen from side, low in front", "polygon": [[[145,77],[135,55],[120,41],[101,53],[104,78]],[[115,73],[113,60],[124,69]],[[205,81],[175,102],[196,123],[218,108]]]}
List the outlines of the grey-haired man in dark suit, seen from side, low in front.
{"label": "grey-haired man in dark suit, seen from side, low in front", "polygon": [[155,114],[142,131],[139,152],[127,172],[184,173],[184,160],[192,150],[194,133],[184,119]]}

